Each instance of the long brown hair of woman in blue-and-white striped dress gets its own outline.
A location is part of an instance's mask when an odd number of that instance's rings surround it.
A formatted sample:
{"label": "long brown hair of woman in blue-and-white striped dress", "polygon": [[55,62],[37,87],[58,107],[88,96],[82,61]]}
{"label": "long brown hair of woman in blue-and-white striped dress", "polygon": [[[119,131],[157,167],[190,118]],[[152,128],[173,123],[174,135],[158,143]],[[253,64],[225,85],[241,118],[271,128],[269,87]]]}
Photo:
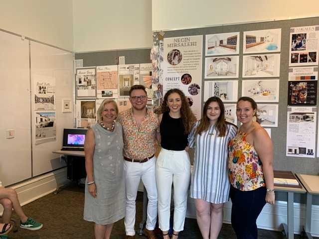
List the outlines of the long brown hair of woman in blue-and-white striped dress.
{"label": "long brown hair of woman in blue-and-white striped dress", "polygon": [[209,119],[207,117],[207,108],[210,103],[212,102],[217,102],[219,109],[220,109],[220,115],[217,119],[217,122],[215,123],[215,128],[218,130],[218,137],[225,136],[226,129],[227,129],[227,121],[225,120],[225,107],[223,102],[216,96],[210,97],[204,104],[204,109],[203,109],[203,115],[202,118],[199,121],[199,124],[196,128],[195,135],[201,133],[203,131],[206,131],[210,125]]}

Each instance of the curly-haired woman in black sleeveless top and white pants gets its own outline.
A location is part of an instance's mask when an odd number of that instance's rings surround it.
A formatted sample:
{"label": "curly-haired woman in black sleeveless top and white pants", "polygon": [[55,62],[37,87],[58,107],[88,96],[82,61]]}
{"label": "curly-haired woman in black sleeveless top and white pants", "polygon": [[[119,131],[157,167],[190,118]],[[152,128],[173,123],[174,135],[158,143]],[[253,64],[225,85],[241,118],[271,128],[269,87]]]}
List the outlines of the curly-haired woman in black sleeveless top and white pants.
{"label": "curly-haired woman in black sleeveless top and white pants", "polygon": [[156,163],[159,226],[163,239],[169,239],[171,185],[174,187],[173,239],[184,229],[187,193],[190,182],[190,161],[185,148],[192,123],[196,120],[184,93],[167,91],[160,109],[161,150]]}

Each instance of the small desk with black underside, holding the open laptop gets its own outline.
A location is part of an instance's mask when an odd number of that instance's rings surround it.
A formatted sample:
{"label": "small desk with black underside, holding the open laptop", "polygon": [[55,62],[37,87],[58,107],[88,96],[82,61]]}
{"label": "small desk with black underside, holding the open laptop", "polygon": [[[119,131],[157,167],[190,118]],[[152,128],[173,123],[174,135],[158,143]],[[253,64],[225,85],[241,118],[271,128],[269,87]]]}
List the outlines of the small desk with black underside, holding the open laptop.
{"label": "small desk with black underside, holding the open laptop", "polygon": [[79,179],[86,177],[84,151],[57,150],[52,153],[62,155],[67,165],[69,180],[78,182]]}

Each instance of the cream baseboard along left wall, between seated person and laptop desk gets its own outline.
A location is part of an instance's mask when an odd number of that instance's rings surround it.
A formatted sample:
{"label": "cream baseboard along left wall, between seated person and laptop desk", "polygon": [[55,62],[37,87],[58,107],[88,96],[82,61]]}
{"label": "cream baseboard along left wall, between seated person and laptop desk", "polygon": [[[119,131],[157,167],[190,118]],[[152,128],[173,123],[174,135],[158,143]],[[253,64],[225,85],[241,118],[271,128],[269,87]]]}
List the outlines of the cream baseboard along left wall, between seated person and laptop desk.
{"label": "cream baseboard along left wall, between seated person and laptop desk", "polygon": [[[57,190],[57,188],[66,185],[69,182],[66,174],[67,169],[61,168],[39,177],[24,181],[20,184],[16,184],[11,188],[15,189],[21,206],[24,206],[45,195],[53,193]],[[0,214],[2,214],[2,211],[3,208],[0,205]]]}

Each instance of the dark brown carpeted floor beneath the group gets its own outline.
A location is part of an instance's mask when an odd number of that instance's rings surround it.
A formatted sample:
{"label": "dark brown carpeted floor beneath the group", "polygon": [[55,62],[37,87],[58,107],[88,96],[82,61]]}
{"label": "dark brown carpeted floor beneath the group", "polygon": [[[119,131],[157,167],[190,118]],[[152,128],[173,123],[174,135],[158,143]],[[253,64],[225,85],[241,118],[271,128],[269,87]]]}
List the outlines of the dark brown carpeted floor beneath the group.
{"label": "dark brown carpeted floor beneath the group", "polygon": [[[23,207],[25,214],[36,221],[43,223],[39,231],[18,229],[10,232],[9,239],[94,239],[93,223],[83,220],[84,189],[71,185],[58,194],[49,194]],[[142,220],[143,193],[137,198],[136,227]],[[13,218],[18,222],[17,216]],[[157,238],[161,238],[157,230]],[[281,232],[259,230],[259,239],[283,239]],[[184,231],[179,234],[179,239],[201,239],[195,219],[186,219]],[[125,236],[123,220],[117,222],[112,231],[111,239],[123,239]],[[146,239],[137,235],[137,239]],[[301,239],[295,235],[295,239]],[[230,225],[224,224],[218,239],[236,239]]]}

